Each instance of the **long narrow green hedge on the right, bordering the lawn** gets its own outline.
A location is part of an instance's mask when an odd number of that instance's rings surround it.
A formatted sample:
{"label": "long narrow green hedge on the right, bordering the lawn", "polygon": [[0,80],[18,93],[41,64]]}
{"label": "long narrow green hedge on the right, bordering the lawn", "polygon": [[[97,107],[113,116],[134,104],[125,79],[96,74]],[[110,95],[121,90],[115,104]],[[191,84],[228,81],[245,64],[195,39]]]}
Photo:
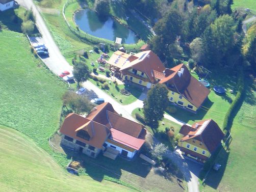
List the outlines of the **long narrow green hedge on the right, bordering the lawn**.
{"label": "long narrow green hedge on the right, bordering the lawn", "polygon": [[241,98],[242,98],[242,94],[243,94],[243,91],[244,91],[244,72],[243,72],[243,68],[240,67],[239,68],[239,76],[238,76],[238,83],[237,83],[237,87],[238,87],[238,92],[237,92],[237,95],[234,99],[234,101],[231,103],[230,107],[228,108],[228,111],[225,115],[225,118],[224,118],[224,122],[223,122],[223,131],[224,133],[226,134],[228,129],[229,129],[229,123],[231,122],[232,120],[232,114],[235,110],[235,108],[237,107],[237,105],[239,104]]}

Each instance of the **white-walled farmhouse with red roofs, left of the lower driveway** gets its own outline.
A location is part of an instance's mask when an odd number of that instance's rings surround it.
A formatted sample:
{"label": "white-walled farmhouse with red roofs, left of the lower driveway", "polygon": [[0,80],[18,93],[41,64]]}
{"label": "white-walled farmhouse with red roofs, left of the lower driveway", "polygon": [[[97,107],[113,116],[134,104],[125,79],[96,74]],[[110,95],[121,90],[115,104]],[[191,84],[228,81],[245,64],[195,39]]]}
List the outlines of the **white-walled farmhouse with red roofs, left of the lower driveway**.
{"label": "white-walled farmhouse with red roofs, left of the lower driveway", "polygon": [[133,158],[145,142],[146,129],[115,112],[105,102],[94,107],[86,117],[69,114],[60,129],[61,145],[96,157],[100,151],[115,159],[118,154]]}

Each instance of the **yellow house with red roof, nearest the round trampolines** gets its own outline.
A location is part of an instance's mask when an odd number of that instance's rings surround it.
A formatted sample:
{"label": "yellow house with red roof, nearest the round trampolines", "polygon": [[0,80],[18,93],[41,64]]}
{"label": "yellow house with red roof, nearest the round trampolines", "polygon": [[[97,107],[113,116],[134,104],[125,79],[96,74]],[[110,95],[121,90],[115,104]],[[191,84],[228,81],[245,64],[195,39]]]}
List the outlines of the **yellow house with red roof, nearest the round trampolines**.
{"label": "yellow house with red roof, nearest the round trampolines", "polygon": [[210,90],[194,78],[186,65],[180,64],[171,69],[165,69],[164,78],[159,81],[169,89],[169,101],[190,112],[197,112],[208,97]]}

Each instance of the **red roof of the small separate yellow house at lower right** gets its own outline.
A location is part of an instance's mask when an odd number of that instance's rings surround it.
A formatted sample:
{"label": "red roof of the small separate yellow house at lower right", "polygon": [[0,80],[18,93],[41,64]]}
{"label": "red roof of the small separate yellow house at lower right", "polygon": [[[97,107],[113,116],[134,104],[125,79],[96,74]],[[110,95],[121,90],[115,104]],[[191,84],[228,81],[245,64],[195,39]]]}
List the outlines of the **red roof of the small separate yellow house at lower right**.
{"label": "red roof of the small separate yellow house at lower right", "polygon": [[224,138],[224,134],[220,127],[212,119],[196,122],[192,127],[183,125],[180,133],[185,133],[185,136],[181,139],[182,142],[191,139],[201,141],[211,153],[215,151],[221,140]]}

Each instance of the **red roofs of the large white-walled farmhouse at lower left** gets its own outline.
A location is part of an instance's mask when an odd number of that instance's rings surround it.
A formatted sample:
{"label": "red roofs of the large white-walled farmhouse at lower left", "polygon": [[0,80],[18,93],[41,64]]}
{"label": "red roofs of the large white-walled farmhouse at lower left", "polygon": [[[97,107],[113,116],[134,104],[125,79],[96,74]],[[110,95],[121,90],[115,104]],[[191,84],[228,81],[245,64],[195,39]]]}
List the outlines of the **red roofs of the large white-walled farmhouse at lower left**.
{"label": "red roofs of the large white-walled farmhouse at lower left", "polygon": [[[89,141],[76,136],[76,132],[82,129],[90,135]],[[101,148],[110,136],[110,139],[136,150],[143,145],[146,135],[142,125],[119,116],[108,102],[95,107],[87,117],[69,114],[60,132],[97,148]]]}

